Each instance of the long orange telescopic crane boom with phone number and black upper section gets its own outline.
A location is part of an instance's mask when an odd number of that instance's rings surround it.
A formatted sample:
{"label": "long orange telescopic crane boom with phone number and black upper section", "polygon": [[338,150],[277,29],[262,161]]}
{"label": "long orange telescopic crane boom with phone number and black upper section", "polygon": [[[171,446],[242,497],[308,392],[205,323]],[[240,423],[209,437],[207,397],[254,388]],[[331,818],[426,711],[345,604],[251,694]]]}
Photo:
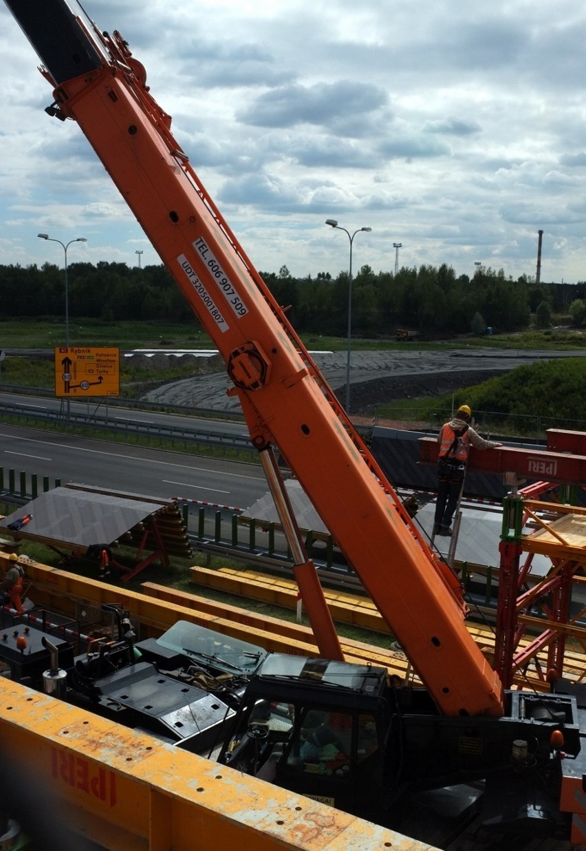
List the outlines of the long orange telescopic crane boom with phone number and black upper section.
{"label": "long orange telescopic crane boom with phone number and black upper section", "polygon": [[502,686],[466,629],[458,581],[418,534],[203,189],[128,45],[65,0],[6,2],[54,86],[48,111],[80,125],[225,358],[253,444],[274,443],[287,458],[438,708],[501,715]]}

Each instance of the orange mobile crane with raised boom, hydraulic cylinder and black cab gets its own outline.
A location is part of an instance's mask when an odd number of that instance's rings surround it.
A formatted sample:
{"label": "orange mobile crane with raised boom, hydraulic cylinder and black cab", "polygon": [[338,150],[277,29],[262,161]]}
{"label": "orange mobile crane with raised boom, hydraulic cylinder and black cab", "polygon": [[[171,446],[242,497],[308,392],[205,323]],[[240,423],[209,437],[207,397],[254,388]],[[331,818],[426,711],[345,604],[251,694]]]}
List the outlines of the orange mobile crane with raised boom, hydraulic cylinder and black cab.
{"label": "orange mobile crane with raised boom, hydraulic cylinder and black cab", "polygon": [[[53,89],[46,112],[64,133],[77,122],[225,360],[316,635],[319,660],[259,664],[220,760],[379,824],[415,792],[481,784],[486,825],[586,848],[580,694],[560,684],[546,695],[503,688],[469,635],[458,577],[412,522],[202,185],[120,32],[100,30],[76,0],[5,3]],[[344,663],[277,450],[421,688]]]}

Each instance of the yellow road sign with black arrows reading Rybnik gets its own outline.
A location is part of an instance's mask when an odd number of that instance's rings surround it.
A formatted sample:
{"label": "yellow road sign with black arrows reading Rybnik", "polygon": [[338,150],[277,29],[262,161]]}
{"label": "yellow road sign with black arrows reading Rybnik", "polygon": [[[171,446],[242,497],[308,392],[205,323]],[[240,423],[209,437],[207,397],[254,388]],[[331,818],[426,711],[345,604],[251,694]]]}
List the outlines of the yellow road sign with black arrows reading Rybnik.
{"label": "yellow road sign with black arrows reading Rybnik", "polygon": [[55,349],[55,396],[120,396],[120,349]]}

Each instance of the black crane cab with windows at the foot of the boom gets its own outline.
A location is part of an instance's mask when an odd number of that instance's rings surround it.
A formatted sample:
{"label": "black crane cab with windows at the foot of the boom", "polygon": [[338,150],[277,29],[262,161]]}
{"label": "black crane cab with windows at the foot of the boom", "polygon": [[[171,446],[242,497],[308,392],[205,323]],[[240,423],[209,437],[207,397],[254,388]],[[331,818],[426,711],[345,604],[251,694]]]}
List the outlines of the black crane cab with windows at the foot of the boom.
{"label": "black crane cab with windows at the foot of the boom", "polygon": [[389,695],[384,668],[270,654],[248,684],[219,762],[380,819]]}

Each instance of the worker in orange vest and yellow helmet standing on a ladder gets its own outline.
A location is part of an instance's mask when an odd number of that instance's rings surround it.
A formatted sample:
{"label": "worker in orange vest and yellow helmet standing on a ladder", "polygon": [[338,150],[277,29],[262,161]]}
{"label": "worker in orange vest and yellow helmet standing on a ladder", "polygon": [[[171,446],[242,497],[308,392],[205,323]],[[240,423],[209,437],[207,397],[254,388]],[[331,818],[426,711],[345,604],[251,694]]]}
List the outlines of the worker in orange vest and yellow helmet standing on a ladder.
{"label": "worker in orange vest and yellow helmet standing on a ladder", "polygon": [[441,426],[437,436],[440,453],[437,459],[437,500],[435,502],[433,534],[452,534],[452,517],[466,475],[470,447],[494,449],[502,446],[495,440],[485,440],[470,426],[472,411],[469,405],[460,405],[456,415]]}

